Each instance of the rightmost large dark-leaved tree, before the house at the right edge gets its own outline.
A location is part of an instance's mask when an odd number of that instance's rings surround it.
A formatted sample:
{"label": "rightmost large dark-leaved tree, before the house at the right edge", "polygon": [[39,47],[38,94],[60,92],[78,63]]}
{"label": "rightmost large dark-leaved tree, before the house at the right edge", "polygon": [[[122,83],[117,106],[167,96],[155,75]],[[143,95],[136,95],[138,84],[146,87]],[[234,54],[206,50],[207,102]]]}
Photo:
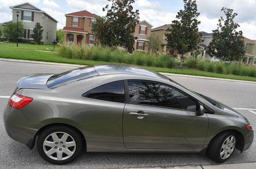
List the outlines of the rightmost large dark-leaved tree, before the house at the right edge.
{"label": "rightmost large dark-leaved tree, before the house at the right edge", "polygon": [[219,19],[218,28],[212,31],[212,41],[206,52],[220,61],[241,60],[245,54],[243,32],[236,31],[240,26],[233,21],[238,14],[227,8],[222,8],[221,11],[225,13],[226,20],[223,17]]}

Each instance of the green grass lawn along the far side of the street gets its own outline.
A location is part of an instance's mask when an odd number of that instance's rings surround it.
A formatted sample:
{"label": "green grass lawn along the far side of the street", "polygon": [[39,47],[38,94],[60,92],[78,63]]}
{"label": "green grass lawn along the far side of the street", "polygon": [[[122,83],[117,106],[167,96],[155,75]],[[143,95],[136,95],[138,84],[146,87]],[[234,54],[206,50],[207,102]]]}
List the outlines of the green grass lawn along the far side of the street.
{"label": "green grass lawn along the far side of the street", "polygon": [[[48,49],[48,50],[47,50]],[[55,51],[58,51],[59,47],[55,46]],[[49,52],[39,52],[41,51],[53,51],[53,45],[34,45],[19,43],[16,47],[16,43],[0,43],[0,58],[9,59],[23,59],[23,60],[34,60],[34,61],[45,61],[45,62],[57,62],[57,63],[70,63],[70,64],[80,64],[80,65],[94,65],[110,62],[93,61],[93,60],[79,60],[79,59],[69,59],[57,56],[57,53]],[[111,62],[113,63],[113,62]],[[120,63],[116,63],[120,64]],[[149,67],[141,66],[150,70],[155,70],[163,73],[173,73],[173,74],[183,74],[183,75],[195,75],[204,77],[214,77],[214,78],[224,78],[224,79],[236,79],[236,80],[247,80],[256,81],[256,78],[248,76],[236,76],[236,75],[224,75],[209,73],[207,71],[201,71],[196,69],[186,69],[186,68],[161,68],[161,67]]]}

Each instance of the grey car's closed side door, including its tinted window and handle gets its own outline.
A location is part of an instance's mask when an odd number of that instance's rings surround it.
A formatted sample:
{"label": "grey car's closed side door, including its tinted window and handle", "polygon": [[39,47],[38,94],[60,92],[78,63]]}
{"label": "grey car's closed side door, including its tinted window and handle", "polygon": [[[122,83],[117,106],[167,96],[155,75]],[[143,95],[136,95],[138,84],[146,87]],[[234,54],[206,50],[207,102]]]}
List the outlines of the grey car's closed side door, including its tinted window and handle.
{"label": "grey car's closed side door, including its tinted window and handle", "polygon": [[188,94],[166,84],[129,80],[123,112],[127,149],[201,149],[208,130],[206,114]]}

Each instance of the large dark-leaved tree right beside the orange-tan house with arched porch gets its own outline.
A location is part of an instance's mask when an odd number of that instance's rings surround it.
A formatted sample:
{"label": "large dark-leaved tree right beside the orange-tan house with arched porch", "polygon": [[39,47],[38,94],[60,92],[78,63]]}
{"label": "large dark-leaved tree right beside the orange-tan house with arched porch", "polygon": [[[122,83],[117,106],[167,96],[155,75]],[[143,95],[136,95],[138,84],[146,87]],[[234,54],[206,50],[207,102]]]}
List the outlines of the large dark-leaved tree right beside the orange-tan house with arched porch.
{"label": "large dark-leaved tree right beside the orange-tan house with arched porch", "polygon": [[[102,10],[106,16],[98,18],[93,32],[103,45],[110,47],[122,46],[129,52],[134,50],[134,36],[139,11],[133,11],[135,0],[108,0],[112,6],[106,5]],[[98,21],[98,22],[97,22]]]}

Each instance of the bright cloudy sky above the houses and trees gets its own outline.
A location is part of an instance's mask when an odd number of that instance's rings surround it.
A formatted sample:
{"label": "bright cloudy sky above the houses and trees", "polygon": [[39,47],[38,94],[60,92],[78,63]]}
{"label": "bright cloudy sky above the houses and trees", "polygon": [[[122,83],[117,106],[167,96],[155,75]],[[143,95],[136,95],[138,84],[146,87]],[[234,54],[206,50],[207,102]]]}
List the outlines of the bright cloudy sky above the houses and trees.
{"label": "bright cloudy sky above the houses and trees", "polygon": [[[66,13],[88,10],[99,16],[105,15],[102,8],[109,4],[107,0],[0,0],[0,22],[12,19],[10,6],[30,2],[58,20],[57,29],[66,24]],[[155,28],[169,24],[177,12],[183,9],[182,0],[135,0],[134,9],[138,9],[140,20],[147,20]],[[197,0],[199,31],[212,32],[217,28],[218,19],[224,16],[222,7],[231,8],[238,16],[234,21],[240,25],[239,31],[250,39],[256,39],[256,0]]]}

